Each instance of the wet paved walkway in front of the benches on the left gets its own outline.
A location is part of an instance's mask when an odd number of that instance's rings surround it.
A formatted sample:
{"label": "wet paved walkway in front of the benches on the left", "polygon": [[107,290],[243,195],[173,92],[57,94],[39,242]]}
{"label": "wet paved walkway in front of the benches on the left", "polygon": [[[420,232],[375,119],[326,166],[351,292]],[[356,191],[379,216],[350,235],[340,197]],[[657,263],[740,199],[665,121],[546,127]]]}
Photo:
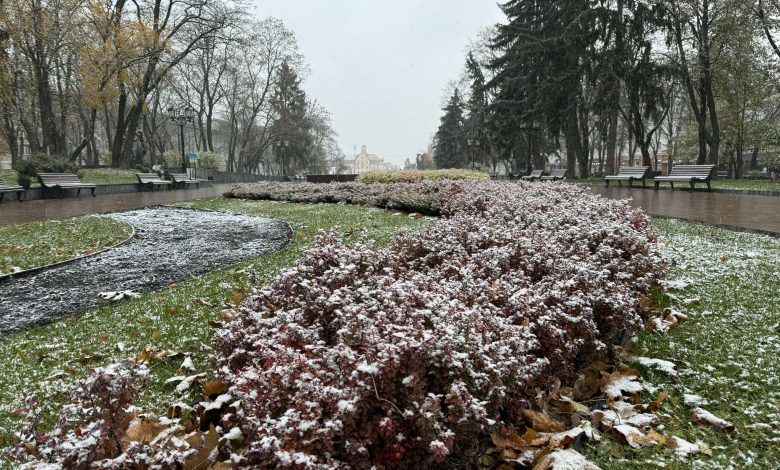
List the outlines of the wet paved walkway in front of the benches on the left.
{"label": "wet paved walkway in front of the benches on the left", "polygon": [[[232,184],[217,184],[201,189],[171,189],[140,193],[110,194],[91,197],[66,197],[64,199],[39,199],[35,201],[8,201],[0,204],[0,225],[10,225],[32,220],[63,219],[84,214],[140,209],[141,207],[188,201],[204,197],[221,196]],[[10,199],[6,197],[6,199]]]}

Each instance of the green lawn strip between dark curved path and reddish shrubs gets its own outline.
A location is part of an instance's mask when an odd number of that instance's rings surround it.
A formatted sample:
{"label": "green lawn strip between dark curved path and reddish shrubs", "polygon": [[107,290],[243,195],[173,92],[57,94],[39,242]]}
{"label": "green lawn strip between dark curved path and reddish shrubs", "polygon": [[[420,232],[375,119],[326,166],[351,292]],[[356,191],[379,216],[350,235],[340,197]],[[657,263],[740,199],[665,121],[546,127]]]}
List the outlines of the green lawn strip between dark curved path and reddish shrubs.
{"label": "green lawn strip between dark curved path and reddish shrubs", "polygon": [[[249,281],[249,273],[258,285],[265,284],[281,269],[292,266],[320,230],[339,227],[352,231],[352,239],[365,230],[370,239],[382,245],[400,230],[419,230],[432,220],[337,204],[210,199],[178,205],[284,220],[293,228],[294,240],[279,253],[0,339],[0,448],[12,443],[13,431],[20,425],[13,412],[20,407],[23,392],[40,397],[46,422],[51,424],[63,404],[61,389],[84,377],[89,368],[135,358],[146,346],[182,353],[167,361],[151,360],[149,383],[138,397],[139,406],[164,412],[167,404],[179,398],[164,385],[165,380],[176,375],[185,354],[198,372],[208,370],[204,347],[214,333],[209,323],[222,321],[219,312],[235,306],[255,285]],[[195,402],[200,396],[193,392],[181,399]],[[0,456],[0,468],[10,465],[3,458]]]}

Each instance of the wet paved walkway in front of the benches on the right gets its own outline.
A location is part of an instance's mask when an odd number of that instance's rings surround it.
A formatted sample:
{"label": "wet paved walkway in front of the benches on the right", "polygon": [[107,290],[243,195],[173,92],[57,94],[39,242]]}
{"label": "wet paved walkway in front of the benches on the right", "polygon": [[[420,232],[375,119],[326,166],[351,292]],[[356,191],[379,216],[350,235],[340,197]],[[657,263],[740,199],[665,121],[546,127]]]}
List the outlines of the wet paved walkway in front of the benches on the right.
{"label": "wet paved walkway in front of the benches on the right", "polygon": [[780,198],[745,194],[593,187],[595,194],[632,198],[648,214],[780,236]]}

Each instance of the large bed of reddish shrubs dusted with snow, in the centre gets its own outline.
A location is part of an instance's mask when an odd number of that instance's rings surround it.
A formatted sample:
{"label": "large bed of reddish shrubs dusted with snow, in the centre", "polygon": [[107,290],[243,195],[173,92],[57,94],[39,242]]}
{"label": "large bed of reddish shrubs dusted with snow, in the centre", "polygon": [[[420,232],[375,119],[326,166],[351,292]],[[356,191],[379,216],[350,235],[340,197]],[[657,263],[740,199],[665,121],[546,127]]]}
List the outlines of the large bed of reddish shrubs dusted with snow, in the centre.
{"label": "large bed of reddish shrubs dusted with snow, in the centre", "polygon": [[[373,186],[234,195],[350,202],[378,197]],[[226,425],[246,436],[247,464],[441,462],[519,423],[538,390],[571,383],[639,326],[638,300],[663,267],[641,212],[562,184],[435,186],[386,188],[424,195],[446,218],[382,250],[320,234],[217,334],[212,362],[243,403]]]}

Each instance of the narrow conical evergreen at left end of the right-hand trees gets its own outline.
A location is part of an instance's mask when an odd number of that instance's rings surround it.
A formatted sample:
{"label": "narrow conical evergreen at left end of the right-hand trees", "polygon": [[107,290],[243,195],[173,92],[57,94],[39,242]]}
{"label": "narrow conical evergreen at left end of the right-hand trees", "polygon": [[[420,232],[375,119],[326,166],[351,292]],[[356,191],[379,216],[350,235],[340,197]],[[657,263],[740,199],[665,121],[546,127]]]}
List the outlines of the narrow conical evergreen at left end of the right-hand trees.
{"label": "narrow conical evergreen at left end of the right-hand trees", "polygon": [[463,100],[457,89],[452,93],[443,109],[439,130],[436,131],[436,146],[433,160],[437,168],[465,168],[466,138],[464,136]]}

